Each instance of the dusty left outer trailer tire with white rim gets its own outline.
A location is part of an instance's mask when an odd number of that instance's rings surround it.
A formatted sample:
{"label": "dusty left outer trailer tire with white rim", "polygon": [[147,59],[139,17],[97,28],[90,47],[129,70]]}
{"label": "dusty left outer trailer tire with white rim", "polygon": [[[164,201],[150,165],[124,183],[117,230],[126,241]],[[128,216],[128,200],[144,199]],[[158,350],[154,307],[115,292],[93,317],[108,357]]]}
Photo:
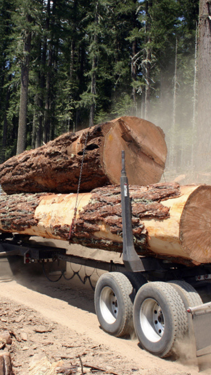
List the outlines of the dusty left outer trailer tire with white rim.
{"label": "dusty left outer trailer tire with white rim", "polygon": [[121,337],[133,332],[133,287],[120,272],[104,273],[97,281],[94,304],[102,329]]}

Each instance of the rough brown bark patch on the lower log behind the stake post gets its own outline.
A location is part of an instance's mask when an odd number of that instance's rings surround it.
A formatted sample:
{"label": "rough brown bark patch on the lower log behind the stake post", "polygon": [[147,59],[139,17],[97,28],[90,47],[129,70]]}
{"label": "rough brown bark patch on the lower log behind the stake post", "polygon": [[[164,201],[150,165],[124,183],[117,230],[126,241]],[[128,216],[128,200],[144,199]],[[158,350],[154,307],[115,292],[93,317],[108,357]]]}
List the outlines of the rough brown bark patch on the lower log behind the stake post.
{"label": "rough brown bark patch on the lower log behind the stake post", "polygon": [[[166,219],[169,208],[160,201],[180,195],[178,184],[154,184],[148,187],[130,186],[134,245],[138,253],[149,253],[147,230],[143,218]],[[102,225],[109,226],[112,234],[122,237],[121,192],[119,186],[100,187],[92,191],[88,205],[79,212],[72,241],[93,248],[121,251],[122,243],[96,238]]]}

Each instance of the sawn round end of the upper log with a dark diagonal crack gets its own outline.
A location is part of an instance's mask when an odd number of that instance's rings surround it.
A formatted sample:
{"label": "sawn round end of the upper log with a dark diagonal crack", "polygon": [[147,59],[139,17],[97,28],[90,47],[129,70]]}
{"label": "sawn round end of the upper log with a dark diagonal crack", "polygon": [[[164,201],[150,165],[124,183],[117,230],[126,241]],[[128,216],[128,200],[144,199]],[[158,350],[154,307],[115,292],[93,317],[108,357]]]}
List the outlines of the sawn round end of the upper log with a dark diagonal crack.
{"label": "sawn round end of the upper log with a dark diagonal crack", "polygon": [[124,116],[105,136],[103,165],[109,181],[119,184],[121,150],[125,151],[129,184],[148,185],[160,181],[167,155],[165,137],[153,123],[138,117]]}

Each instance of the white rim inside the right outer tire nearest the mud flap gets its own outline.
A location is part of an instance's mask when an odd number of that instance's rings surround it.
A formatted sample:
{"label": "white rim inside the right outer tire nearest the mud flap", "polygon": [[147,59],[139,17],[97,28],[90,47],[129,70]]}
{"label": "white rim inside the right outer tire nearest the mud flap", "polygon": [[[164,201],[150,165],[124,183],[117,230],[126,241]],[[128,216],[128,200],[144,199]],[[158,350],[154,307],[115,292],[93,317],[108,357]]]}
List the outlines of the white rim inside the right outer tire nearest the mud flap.
{"label": "white rim inside the right outer tire nearest the mud flap", "polygon": [[147,298],[141,305],[139,318],[145,337],[151,342],[158,342],[163,336],[165,319],[157,301]]}

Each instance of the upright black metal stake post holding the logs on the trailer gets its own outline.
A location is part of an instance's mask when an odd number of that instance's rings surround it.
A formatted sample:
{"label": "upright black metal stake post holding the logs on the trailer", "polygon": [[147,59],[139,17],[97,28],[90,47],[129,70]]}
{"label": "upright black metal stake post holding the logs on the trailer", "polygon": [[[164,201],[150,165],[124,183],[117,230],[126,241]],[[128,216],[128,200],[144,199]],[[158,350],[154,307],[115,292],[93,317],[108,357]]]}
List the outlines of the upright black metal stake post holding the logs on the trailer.
{"label": "upright black metal stake post holding the logs on the trailer", "polygon": [[120,178],[121,208],[123,226],[123,262],[128,271],[141,271],[142,262],[135,251],[133,244],[131,205],[129,196],[128,179],[125,169],[125,156],[122,151],[122,170]]}

